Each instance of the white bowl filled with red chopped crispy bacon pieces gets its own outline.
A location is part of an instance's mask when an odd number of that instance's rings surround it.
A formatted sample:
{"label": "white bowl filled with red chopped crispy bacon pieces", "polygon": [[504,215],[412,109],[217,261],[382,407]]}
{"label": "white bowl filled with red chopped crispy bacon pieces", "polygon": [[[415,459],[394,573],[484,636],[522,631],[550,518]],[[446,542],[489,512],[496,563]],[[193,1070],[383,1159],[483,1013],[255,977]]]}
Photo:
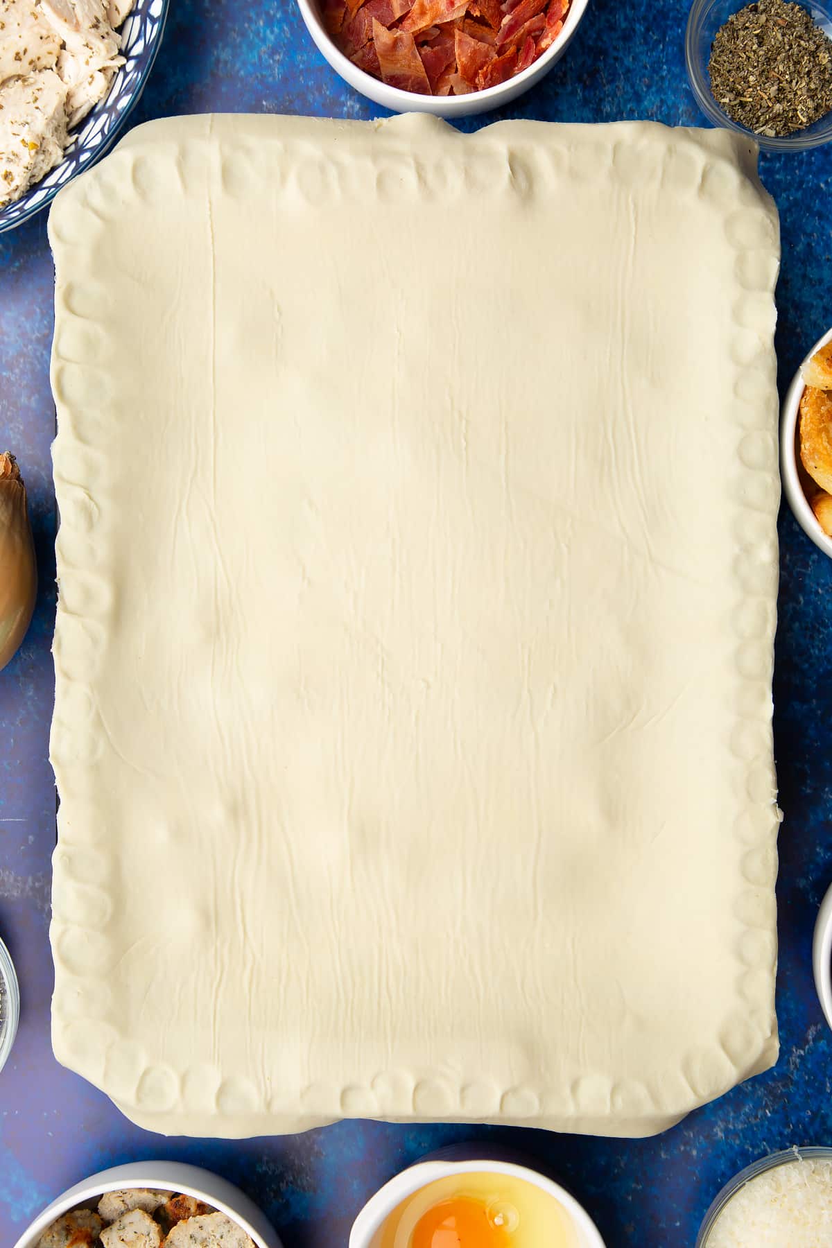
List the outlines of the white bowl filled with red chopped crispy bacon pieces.
{"label": "white bowl filled with red chopped crispy bacon pieces", "polygon": [[589,0],[298,0],[323,56],[394,112],[508,104],[566,51]]}

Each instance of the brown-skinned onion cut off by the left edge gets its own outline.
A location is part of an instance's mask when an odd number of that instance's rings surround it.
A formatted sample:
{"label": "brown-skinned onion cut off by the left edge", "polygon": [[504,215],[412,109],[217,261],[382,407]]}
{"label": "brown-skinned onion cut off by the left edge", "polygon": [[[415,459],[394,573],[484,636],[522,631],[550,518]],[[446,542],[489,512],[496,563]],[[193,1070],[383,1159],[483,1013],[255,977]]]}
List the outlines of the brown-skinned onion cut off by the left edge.
{"label": "brown-skinned onion cut off by the left edge", "polygon": [[37,567],[26,487],[15,457],[0,454],[0,671],[16,654],[35,610]]}

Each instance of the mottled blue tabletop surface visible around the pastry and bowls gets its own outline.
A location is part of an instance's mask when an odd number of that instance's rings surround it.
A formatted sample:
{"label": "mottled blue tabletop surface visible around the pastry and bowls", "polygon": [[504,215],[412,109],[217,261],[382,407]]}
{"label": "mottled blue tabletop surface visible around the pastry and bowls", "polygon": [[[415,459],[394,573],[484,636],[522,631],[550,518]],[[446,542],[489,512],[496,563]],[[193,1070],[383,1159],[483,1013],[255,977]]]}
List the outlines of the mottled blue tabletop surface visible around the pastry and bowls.
{"label": "mottled blue tabletop surface visible around the pastry and bowls", "polygon": [[[700,124],[682,56],[686,5],[591,0],[566,57],[530,95],[493,116]],[[165,45],[133,124],[176,112],[380,110],[321,60],[294,4],[172,0]],[[467,122],[465,129],[481,124]],[[832,323],[832,146],[763,157],[783,237],[777,346],[781,384]],[[30,492],[41,590],[26,643],[0,675],[0,934],[22,986],[22,1018],[0,1072],[0,1248],[85,1174],[170,1157],[241,1183],[286,1248],[343,1248],[363,1201],[402,1166],[472,1137],[520,1146],[588,1206],[610,1248],[692,1248],[717,1188],[791,1143],[832,1143],[832,1036],[811,978],[815,912],[832,882],[832,560],[781,515],[782,587],[775,679],[781,805],[777,1067],[656,1139],[583,1139],[505,1128],[344,1122],[307,1136],[241,1143],[161,1139],[130,1126],[99,1092],[56,1066],[49,1038],[49,870],[55,789],[46,761],[52,700],[54,495],[49,446],[52,267],[45,216],[0,240],[0,443]]]}

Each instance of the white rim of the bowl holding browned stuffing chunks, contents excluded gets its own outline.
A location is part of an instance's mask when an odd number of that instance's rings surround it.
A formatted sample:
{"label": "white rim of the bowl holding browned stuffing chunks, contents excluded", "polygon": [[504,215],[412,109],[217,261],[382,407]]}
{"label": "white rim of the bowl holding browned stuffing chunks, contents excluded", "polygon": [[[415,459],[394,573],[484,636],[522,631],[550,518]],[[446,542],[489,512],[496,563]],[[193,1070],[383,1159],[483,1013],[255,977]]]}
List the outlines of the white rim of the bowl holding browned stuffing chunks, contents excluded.
{"label": "white rim of the bowl holding browned stuffing chunks, contents excluded", "polygon": [[150,1187],[162,1192],[183,1192],[186,1196],[193,1196],[237,1222],[256,1248],[281,1248],[277,1232],[238,1187],[210,1171],[200,1169],[197,1166],[182,1166],[180,1162],[135,1162],[130,1166],[115,1166],[112,1169],[85,1178],[82,1183],[77,1183],[52,1201],[49,1208],[35,1218],[29,1231],[22,1233],[15,1248],[34,1248],[44,1231],[62,1213],[87,1203],[92,1207],[105,1192],[120,1192],[130,1187]]}

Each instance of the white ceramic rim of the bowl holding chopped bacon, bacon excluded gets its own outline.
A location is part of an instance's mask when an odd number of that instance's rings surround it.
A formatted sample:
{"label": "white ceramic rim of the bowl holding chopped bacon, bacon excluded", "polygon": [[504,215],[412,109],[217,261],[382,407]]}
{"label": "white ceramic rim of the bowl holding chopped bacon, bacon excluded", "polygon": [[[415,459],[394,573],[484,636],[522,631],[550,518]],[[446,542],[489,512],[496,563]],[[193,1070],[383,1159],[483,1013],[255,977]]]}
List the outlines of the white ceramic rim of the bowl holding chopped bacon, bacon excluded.
{"label": "white ceramic rim of the bowl holding chopped bacon, bacon excluded", "polygon": [[388,86],[387,82],[373,77],[372,74],[359,70],[348,56],[344,56],[336,47],[327,34],[321,20],[318,0],[298,0],[301,16],[307,30],[319,51],[323,52],[336,74],[341,74],[344,82],[356,87],[368,100],[374,100],[375,104],[380,104],[382,107],[390,109],[393,112],[433,112],[438,117],[465,117],[472,112],[488,112],[490,109],[498,109],[528,91],[564,55],[573,41],[588,4],[589,0],[573,0],[564,21],[564,29],[551,47],[548,47],[528,70],[523,70],[508,82],[490,86],[485,91],[472,91],[470,95],[417,95],[414,91],[402,91],[397,86]]}

